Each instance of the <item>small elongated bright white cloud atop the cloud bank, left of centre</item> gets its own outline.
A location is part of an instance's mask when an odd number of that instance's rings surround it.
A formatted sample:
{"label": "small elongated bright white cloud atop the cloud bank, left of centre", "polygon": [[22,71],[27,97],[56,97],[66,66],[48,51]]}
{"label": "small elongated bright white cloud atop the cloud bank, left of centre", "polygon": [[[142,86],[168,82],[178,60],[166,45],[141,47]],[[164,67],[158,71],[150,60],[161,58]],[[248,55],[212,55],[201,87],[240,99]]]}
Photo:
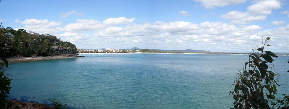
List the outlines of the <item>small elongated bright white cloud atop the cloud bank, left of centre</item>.
{"label": "small elongated bright white cloud atop the cloud bank, left of centre", "polygon": [[119,24],[129,24],[131,22],[134,22],[134,20],[136,20],[137,18],[131,18],[131,19],[127,19],[124,17],[119,17],[119,18],[108,18],[105,21],[103,21],[103,24],[107,24],[107,25],[119,25]]}

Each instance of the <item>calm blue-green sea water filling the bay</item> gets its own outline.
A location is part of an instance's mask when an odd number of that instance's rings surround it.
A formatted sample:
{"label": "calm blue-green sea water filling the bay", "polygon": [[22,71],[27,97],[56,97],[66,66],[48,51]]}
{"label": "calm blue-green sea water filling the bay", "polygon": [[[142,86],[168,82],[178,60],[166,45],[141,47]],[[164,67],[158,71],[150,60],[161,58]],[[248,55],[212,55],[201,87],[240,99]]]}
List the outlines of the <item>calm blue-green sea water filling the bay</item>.
{"label": "calm blue-green sea water filling the bay", "polygon": [[[11,99],[69,108],[223,109],[231,108],[236,72],[247,55],[91,54],[10,62]],[[288,94],[288,56],[274,58],[280,94]],[[282,97],[281,95],[277,95]],[[200,106],[199,106],[200,105]]]}

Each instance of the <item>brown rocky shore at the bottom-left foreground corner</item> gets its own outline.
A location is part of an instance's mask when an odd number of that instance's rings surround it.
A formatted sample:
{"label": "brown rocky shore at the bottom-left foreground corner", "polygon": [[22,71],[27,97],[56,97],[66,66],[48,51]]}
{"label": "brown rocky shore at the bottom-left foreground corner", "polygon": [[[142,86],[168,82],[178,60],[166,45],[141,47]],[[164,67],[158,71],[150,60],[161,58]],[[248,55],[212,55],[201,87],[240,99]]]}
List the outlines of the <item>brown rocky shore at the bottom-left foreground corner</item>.
{"label": "brown rocky shore at the bottom-left foreground corner", "polygon": [[20,109],[53,109],[52,106],[49,106],[47,104],[39,104],[34,102],[21,102],[16,99],[14,100],[8,100],[10,104],[5,104],[5,107],[8,109],[14,109],[15,106],[19,106]]}

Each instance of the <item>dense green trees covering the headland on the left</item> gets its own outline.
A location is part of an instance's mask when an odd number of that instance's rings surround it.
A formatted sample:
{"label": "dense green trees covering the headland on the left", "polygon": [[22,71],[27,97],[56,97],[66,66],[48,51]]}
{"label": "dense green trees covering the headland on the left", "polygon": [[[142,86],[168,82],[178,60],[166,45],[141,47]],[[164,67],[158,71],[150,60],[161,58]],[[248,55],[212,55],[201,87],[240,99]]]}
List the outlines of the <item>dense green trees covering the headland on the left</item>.
{"label": "dense green trees covering the headland on the left", "polygon": [[[56,51],[51,46],[66,48],[67,52],[78,53],[77,48],[70,42],[61,41],[60,38],[49,34],[26,32],[24,29],[13,30],[10,27],[1,29],[1,57],[13,56],[54,56]],[[11,35],[12,34],[12,35]],[[4,52],[2,52],[4,51]]]}

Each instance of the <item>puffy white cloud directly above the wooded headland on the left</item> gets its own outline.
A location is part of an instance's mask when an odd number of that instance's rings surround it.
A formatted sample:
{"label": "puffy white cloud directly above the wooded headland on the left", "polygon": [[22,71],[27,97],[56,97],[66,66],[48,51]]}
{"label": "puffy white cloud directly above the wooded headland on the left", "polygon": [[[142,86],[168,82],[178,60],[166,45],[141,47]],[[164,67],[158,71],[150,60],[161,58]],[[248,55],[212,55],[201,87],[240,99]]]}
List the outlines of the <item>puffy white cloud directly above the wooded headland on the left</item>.
{"label": "puffy white cloud directly above the wooded headland on the left", "polygon": [[[16,23],[25,24],[25,26],[21,27],[26,31],[38,32],[40,34],[55,34],[58,31],[53,29],[54,26],[60,26],[62,22],[49,22],[47,19],[37,20],[37,19],[26,19],[24,21],[20,21],[19,19],[14,20]],[[16,28],[18,29],[18,28]]]}

